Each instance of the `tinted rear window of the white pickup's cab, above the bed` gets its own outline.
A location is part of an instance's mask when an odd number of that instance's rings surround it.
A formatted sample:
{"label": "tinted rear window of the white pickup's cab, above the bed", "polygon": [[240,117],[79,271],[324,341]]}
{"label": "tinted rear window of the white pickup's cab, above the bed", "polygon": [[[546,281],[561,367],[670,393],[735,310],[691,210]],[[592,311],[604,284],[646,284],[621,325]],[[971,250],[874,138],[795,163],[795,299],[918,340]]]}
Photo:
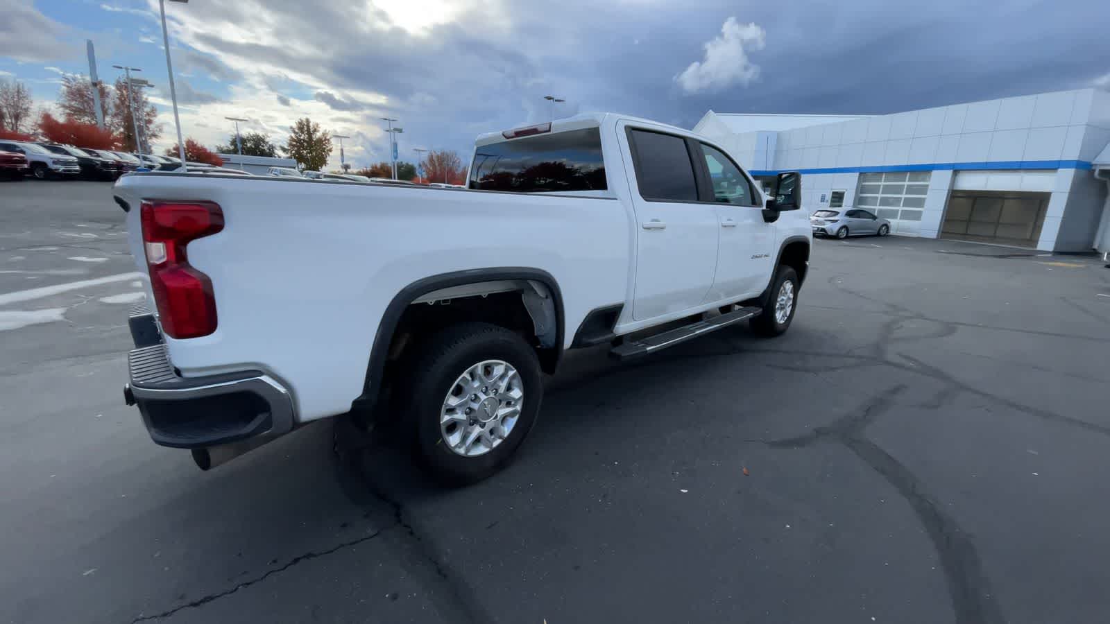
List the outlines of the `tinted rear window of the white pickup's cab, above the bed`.
{"label": "tinted rear window of the white pickup's cab, above the bed", "polygon": [[480,145],[470,187],[517,193],[604,191],[608,184],[601,130],[585,128]]}

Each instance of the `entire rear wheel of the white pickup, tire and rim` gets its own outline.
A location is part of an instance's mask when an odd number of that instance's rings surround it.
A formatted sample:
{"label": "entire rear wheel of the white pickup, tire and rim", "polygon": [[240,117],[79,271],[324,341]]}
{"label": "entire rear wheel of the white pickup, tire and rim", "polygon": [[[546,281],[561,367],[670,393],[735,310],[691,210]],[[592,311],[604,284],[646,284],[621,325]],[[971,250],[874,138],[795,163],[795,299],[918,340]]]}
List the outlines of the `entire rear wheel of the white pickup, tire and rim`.
{"label": "entire rear wheel of the white pickup, tire and rim", "polygon": [[425,344],[407,384],[416,450],[441,481],[486,479],[508,463],[536,422],[543,399],[536,352],[488,323],[461,323]]}

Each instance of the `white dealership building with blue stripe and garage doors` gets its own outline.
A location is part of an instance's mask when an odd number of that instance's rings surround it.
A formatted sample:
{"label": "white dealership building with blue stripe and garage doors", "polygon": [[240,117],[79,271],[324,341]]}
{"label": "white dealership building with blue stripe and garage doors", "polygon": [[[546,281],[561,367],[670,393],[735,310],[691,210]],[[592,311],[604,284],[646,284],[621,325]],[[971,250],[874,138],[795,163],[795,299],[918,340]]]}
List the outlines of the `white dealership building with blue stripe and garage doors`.
{"label": "white dealership building with blue stripe and garage doors", "polygon": [[891,233],[1110,250],[1110,92],[1080,89],[884,115],[709,111],[695,132],[757,178],[803,174],[807,210]]}

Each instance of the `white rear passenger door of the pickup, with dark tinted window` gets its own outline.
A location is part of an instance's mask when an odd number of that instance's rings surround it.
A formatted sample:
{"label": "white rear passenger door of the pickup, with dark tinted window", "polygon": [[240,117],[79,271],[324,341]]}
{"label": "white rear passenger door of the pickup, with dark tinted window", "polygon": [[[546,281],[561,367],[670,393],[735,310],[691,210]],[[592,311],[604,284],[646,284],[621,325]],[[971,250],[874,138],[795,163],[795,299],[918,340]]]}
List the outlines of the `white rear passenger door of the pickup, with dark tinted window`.
{"label": "white rear passenger door of the pickup, with dark tinted window", "polygon": [[650,128],[617,124],[629,147],[629,192],[636,213],[633,319],[698,305],[713,285],[720,224],[716,207],[698,201],[696,141]]}

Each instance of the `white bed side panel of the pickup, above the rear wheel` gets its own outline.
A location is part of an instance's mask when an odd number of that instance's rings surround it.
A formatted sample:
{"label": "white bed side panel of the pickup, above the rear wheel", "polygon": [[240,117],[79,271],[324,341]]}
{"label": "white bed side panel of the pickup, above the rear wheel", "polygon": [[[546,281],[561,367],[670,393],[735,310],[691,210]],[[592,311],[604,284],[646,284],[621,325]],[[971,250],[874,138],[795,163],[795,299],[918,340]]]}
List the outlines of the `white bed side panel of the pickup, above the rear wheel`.
{"label": "white bed side panel of the pickup, above the rear wheel", "polygon": [[263,368],[292,386],[302,422],[351,409],[386,305],[417,280],[547,271],[568,346],[591,310],[623,301],[629,273],[630,224],[614,199],[160,173],[121,178],[114,192],[132,207],[141,270],[142,200],[223,209],[224,230],[188,249],[212,279],[218,329],[167,339],[171,359],[185,376]]}

